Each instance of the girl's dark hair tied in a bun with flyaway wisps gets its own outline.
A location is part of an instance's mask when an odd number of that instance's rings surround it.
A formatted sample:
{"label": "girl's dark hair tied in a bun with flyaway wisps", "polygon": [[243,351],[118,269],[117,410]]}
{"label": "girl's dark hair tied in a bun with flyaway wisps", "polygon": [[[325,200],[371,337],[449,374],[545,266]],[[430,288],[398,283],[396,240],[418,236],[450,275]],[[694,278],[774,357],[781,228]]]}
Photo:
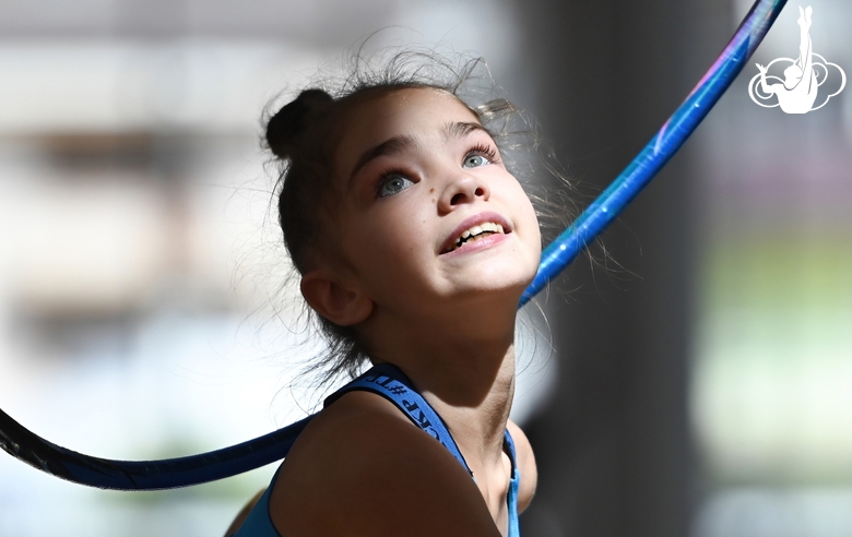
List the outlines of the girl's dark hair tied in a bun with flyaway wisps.
{"label": "girl's dark hair tied in a bun with flyaway wisps", "polygon": [[[377,67],[378,65],[378,67]],[[500,147],[507,167],[516,177],[520,174],[513,165],[524,164],[510,155],[513,150],[529,153],[537,146],[529,121],[506,98],[494,98],[494,82],[482,58],[457,58],[455,61],[434,52],[404,51],[389,60],[376,58],[372,62],[356,55],[350,74],[342,80],[326,80],[312,84],[265,122],[265,144],[279,164],[277,195],[279,222],[284,234],[284,244],[299,274],[311,270],[316,255],[328,240],[328,186],[331,163],[338,136],[345,128],[346,115],[366,99],[406,88],[436,88],[454,95],[483,123]],[[476,95],[488,95],[478,99]],[[548,168],[551,169],[551,168]],[[558,171],[557,177],[563,177]],[[529,184],[525,184],[529,191]],[[541,207],[546,199],[530,195],[540,217],[546,216]],[[540,203],[536,203],[540,202]],[[541,203],[544,202],[544,203]],[[330,244],[329,244],[330,246]],[[368,356],[352,326],[341,326],[311,313],[320,332],[328,341],[328,351],[319,366],[324,369],[323,380],[347,373],[358,374]]]}

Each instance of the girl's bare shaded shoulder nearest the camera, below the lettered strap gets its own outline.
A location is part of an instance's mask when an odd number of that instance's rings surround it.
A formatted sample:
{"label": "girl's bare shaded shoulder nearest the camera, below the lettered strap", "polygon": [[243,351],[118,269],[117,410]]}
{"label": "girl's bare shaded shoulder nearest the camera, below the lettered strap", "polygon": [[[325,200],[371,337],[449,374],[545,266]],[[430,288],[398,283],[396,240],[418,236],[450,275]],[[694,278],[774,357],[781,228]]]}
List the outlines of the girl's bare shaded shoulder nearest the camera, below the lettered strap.
{"label": "girl's bare shaded shoulder nearest the camera, below the lettered strap", "polygon": [[270,513],[287,537],[499,535],[455,458],[368,392],[344,395],[305,429],[281,467]]}

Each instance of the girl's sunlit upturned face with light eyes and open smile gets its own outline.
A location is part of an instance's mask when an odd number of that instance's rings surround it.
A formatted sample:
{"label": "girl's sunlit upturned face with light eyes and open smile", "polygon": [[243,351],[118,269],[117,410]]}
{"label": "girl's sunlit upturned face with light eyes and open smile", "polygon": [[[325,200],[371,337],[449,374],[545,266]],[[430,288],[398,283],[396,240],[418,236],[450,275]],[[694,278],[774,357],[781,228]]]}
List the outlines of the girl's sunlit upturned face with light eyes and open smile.
{"label": "girl's sunlit upturned face with light eyes and open smile", "polygon": [[471,110],[442,91],[400,90],[345,124],[336,242],[374,311],[416,317],[495,293],[517,306],[539,267],[539,223]]}

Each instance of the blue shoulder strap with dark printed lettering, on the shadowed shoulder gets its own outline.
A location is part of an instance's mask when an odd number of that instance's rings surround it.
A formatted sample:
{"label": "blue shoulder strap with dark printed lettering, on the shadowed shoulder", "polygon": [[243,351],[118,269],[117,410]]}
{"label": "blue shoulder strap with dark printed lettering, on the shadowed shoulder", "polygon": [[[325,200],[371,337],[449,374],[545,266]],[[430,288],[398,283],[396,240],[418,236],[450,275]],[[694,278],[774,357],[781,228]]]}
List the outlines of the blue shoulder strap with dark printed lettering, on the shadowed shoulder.
{"label": "blue shoulder strap with dark printed lettering, on the shadowed shoulder", "polygon": [[326,399],[324,406],[331,405],[343,394],[356,390],[372,392],[393,403],[415,426],[428,432],[434,439],[443,444],[452,456],[468,470],[468,474],[473,476],[468,462],[464,461],[464,456],[462,456],[459,446],[455,445],[455,441],[447,429],[447,423],[443,422],[426,399],[414,390],[411,380],[397,366],[391,363],[374,366],[366,373],[331,394]]}

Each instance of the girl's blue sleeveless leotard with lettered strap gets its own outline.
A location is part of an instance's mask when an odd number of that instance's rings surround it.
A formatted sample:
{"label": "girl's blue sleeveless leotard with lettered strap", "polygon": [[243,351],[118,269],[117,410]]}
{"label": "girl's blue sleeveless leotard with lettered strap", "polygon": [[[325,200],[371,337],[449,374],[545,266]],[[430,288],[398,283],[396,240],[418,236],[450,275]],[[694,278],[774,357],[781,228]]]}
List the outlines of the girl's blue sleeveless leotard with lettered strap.
{"label": "girl's blue sleeveless leotard with lettered strap", "polygon": [[[390,363],[380,363],[372,367],[366,373],[334,392],[326,399],[326,406],[334,403],[344,393],[355,390],[379,394],[393,403],[414,425],[443,444],[464,469],[473,476],[450,431],[447,429],[447,425],[435,409],[426,403],[426,399],[414,391],[411,381],[399,368]],[[509,508],[509,537],[520,537],[518,525],[518,486],[521,476],[516,464],[514,442],[512,442],[512,437],[508,430],[504,434],[504,446],[512,464],[512,476],[506,498]],[[275,526],[272,525],[272,518],[269,513],[269,501],[276,479],[277,474],[272,478],[269,488],[260,497],[258,503],[246,517],[246,521],[232,537],[282,537],[275,529]]]}

